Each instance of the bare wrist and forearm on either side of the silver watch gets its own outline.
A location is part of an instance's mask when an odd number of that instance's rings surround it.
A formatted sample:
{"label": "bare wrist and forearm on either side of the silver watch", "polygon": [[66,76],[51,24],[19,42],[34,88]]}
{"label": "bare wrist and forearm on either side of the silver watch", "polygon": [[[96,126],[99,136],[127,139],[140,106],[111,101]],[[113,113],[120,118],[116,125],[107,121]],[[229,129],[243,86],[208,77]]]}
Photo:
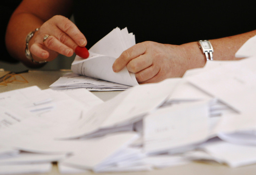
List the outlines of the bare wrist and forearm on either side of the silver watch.
{"label": "bare wrist and forearm on either side of the silver watch", "polygon": [[[239,60],[241,58],[235,58],[235,53],[238,49],[251,37],[256,35],[256,30],[228,36],[225,38],[209,40],[213,45],[213,59],[214,60]],[[184,50],[186,51],[187,58],[190,61],[191,68],[203,67],[206,63],[205,55],[202,54],[199,49],[197,42],[191,42],[182,44]]]}

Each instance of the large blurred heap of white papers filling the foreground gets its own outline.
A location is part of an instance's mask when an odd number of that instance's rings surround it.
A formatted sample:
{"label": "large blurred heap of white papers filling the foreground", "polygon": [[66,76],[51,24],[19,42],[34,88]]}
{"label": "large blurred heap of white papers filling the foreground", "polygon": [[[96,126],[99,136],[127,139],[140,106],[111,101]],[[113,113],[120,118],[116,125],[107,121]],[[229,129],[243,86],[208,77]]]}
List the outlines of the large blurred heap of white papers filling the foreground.
{"label": "large blurred heap of white papers filling the foreground", "polygon": [[0,174],[45,173],[53,161],[61,173],[255,164],[255,64],[256,56],[208,61],[106,102],[85,89],[1,93]]}

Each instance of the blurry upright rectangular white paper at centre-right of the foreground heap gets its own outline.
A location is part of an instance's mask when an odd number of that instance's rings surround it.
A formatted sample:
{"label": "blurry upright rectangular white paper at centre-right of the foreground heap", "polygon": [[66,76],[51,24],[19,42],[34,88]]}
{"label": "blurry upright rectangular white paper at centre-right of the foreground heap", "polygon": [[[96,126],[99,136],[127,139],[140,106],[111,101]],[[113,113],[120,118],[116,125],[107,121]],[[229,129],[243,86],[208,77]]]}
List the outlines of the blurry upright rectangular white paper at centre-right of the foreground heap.
{"label": "blurry upright rectangular white paper at centre-right of the foreground heap", "polygon": [[208,101],[163,107],[143,123],[145,153],[162,153],[208,139]]}

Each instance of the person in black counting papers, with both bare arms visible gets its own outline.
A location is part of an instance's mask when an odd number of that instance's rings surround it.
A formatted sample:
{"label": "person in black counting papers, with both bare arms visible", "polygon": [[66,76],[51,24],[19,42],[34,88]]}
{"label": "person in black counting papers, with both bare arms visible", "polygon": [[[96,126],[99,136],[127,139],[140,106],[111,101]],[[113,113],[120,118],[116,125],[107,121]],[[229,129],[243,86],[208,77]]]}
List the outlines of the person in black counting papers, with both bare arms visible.
{"label": "person in black counting papers, with both bare arms visible", "polygon": [[[10,18],[6,45],[14,58],[38,67],[45,64],[38,61],[72,56],[78,45],[89,49],[113,28],[127,27],[137,44],[115,60],[113,71],[126,66],[139,83],[159,82],[205,65],[198,40],[210,41],[214,60],[241,59],[235,52],[256,34],[253,5],[252,0],[23,0]],[[28,50],[34,61],[24,54],[31,31]]]}

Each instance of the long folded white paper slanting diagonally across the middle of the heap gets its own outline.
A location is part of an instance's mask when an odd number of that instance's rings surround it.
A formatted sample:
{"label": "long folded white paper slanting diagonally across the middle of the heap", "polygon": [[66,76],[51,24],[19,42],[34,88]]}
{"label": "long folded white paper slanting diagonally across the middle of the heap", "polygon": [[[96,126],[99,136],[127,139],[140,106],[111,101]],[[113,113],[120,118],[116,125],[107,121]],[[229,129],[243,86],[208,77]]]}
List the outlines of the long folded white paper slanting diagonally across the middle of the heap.
{"label": "long folded white paper slanting diagonally across the middle of the heap", "polygon": [[[143,84],[119,93],[114,98],[91,108],[59,138],[79,138],[95,134],[102,129],[125,126],[135,123],[157,107],[171,94],[176,79],[160,83]],[[105,130],[107,133],[107,130]]]}

